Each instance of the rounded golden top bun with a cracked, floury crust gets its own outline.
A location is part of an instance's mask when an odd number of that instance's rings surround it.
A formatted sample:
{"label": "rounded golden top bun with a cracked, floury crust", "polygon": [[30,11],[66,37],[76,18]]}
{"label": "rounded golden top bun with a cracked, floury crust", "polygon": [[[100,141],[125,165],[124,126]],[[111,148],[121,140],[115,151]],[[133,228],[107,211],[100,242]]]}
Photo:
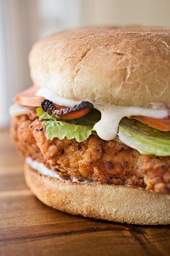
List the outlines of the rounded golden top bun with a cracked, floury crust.
{"label": "rounded golden top bun with a cracked, floury crust", "polygon": [[50,35],[30,52],[33,82],[61,98],[170,108],[170,29],[82,27]]}

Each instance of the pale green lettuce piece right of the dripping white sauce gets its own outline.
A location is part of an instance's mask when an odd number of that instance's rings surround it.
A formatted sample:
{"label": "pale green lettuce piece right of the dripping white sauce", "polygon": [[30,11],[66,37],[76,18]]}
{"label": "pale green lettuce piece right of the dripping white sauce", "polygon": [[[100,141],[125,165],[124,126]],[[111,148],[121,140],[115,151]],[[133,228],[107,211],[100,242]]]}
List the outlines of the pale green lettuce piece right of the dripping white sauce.
{"label": "pale green lettuce piece right of the dripping white sauce", "polygon": [[134,119],[120,121],[119,139],[140,154],[170,155],[170,132],[161,132]]}

